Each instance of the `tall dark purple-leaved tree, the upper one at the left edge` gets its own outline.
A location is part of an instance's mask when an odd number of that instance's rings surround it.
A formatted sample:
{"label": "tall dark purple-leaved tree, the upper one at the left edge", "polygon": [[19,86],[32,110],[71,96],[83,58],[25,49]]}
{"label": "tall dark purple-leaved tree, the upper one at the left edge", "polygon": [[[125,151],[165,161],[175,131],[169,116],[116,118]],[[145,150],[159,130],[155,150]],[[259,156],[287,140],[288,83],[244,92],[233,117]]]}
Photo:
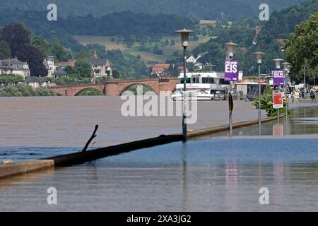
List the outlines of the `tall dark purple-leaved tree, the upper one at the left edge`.
{"label": "tall dark purple-leaved tree, the upper one at the left edge", "polygon": [[1,40],[10,45],[11,54],[16,57],[20,49],[30,44],[30,32],[22,23],[9,24],[1,30]]}

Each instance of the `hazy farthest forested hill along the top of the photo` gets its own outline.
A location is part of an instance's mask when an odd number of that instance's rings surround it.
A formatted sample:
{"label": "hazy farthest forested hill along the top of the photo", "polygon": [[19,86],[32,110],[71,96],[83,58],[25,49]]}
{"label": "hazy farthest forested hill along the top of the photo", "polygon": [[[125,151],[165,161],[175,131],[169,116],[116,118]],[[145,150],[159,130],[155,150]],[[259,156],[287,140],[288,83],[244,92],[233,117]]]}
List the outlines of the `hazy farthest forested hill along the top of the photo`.
{"label": "hazy farthest forested hill along the top of the photo", "polygon": [[[199,18],[219,19],[221,13],[228,20],[239,20],[243,16],[257,16],[259,5],[269,4],[271,11],[280,11],[304,0],[55,0],[60,16],[104,16],[113,12],[160,13],[177,16],[194,14]],[[26,11],[45,11],[51,0],[1,0],[1,8]]]}

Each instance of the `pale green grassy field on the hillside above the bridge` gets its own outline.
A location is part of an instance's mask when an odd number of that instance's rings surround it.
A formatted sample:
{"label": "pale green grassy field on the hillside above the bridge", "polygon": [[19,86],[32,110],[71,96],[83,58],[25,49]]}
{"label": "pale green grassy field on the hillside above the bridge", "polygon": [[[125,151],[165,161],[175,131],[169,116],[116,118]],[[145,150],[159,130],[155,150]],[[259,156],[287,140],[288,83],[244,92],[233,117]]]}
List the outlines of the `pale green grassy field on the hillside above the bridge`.
{"label": "pale green grassy field on the hillside above the bridge", "polygon": [[[208,42],[213,37],[207,37],[199,35],[198,41],[192,41],[189,45],[189,50],[196,48],[199,44]],[[140,43],[136,42],[132,47],[127,47],[124,43],[116,43],[112,42],[112,37],[93,37],[93,36],[75,36],[75,39],[83,45],[86,44],[100,44],[106,47],[107,50],[119,49],[124,54],[131,54],[134,56],[140,56],[144,62],[148,61],[158,61],[159,63],[165,63],[165,61],[172,59],[172,54],[174,52],[182,53],[182,47],[180,44],[179,36],[165,36],[158,43],[148,43],[145,47],[155,47],[157,44],[159,49],[163,50],[163,55],[153,54],[151,52],[143,52],[140,51],[139,47]],[[175,40],[175,45],[165,45],[165,40],[171,42],[171,40]]]}

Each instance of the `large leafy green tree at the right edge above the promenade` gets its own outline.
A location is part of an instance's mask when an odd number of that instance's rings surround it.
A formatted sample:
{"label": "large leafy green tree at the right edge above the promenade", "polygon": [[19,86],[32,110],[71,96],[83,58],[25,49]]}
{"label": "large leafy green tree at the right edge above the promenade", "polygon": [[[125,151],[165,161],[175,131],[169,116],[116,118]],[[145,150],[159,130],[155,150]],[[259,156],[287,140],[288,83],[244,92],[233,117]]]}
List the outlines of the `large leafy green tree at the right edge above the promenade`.
{"label": "large leafy green tree at the right edge above the promenade", "polygon": [[296,26],[285,47],[286,59],[293,65],[292,76],[302,81],[304,67],[307,71],[318,71],[318,12]]}

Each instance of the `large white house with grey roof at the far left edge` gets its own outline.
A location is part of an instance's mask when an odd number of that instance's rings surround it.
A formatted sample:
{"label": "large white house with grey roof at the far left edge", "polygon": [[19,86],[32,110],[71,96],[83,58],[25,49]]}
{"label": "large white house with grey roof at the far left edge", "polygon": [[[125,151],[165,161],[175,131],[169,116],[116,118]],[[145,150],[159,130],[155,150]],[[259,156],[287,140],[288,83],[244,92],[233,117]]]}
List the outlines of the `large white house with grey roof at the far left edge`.
{"label": "large white house with grey roof at the far left edge", "polygon": [[0,74],[15,74],[26,78],[30,76],[28,63],[19,61],[17,58],[0,60]]}

